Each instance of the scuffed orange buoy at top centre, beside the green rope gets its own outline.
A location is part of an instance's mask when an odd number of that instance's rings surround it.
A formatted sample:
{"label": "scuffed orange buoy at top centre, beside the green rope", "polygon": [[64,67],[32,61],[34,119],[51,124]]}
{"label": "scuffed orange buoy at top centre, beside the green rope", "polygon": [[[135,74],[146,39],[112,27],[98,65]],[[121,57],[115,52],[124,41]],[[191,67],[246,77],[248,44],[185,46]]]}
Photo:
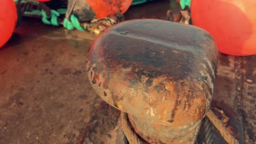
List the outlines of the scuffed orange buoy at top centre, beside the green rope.
{"label": "scuffed orange buoy at top centre, beside the green rope", "polygon": [[94,10],[97,19],[103,17],[109,17],[120,12],[124,14],[125,11],[130,7],[132,0],[114,0],[114,1],[103,1],[103,0],[85,0]]}

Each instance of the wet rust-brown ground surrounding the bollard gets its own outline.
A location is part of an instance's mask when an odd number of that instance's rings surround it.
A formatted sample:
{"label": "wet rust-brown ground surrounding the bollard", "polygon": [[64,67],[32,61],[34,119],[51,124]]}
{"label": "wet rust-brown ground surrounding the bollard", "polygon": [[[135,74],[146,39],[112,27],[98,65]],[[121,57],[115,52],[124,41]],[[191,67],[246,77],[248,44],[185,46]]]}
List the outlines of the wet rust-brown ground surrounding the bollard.
{"label": "wet rust-brown ground surrounding the bollard", "polygon": [[[168,1],[131,7],[126,19],[166,19]],[[24,20],[0,49],[0,143],[119,143],[120,112],[96,95],[85,73],[95,35]],[[256,141],[256,56],[220,53],[214,100]]]}

